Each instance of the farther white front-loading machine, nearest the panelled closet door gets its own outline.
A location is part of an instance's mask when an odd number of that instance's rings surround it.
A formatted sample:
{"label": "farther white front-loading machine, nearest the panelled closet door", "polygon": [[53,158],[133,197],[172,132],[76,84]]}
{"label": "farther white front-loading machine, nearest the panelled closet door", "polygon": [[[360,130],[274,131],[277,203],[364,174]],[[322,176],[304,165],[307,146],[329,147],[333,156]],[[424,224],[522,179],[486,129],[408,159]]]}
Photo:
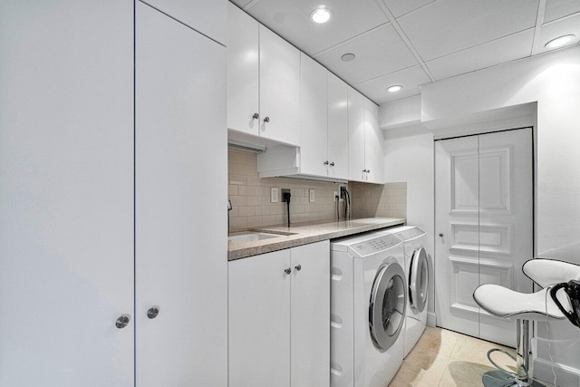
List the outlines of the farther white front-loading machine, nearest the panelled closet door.
{"label": "farther white front-loading machine, nearest the panelled closet door", "polygon": [[408,285],[408,305],[405,318],[405,353],[407,356],[419,341],[427,324],[427,295],[429,266],[427,252],[423,247],[425,232],[419,227],[403,226],[390,228],[391,234],[402,241],[405,253],[405,275]]}

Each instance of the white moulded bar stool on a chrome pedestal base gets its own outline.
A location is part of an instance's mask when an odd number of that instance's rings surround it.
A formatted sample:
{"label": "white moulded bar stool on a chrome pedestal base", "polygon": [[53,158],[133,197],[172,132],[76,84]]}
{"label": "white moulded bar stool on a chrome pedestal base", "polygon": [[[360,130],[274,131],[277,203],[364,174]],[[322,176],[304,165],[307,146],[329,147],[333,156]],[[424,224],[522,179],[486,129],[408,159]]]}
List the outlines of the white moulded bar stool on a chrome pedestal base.
{"label": "white moulded bar stool on a chrome pedestal base", "polygon": [[[494,363],[491,360],[491,353],[506,352],[498,348],[492,349],[488,351],[488,359],[498,370],[484,373],[482,382],[486,387],[544,387],[544,384],[533,381],[528,375],[529,322],[546,321],[546,316],[558,320],[565,319],[565,315],[558,309],[552,297],[547,294],[548,286],[568,282],[571,279],[580,280],[580,266],[554,259],[530,259],[524,264],[522,270],[543,289],[536,293],[526,294],[500,285],[485,284],[478,286],[473,293],[476,303],[489,314],[517,319],[517,348],[516,359],[514,359],[517,373],[509,372]],[[562,305],[570,305],[566,295],[558,294],[557,297]]]}

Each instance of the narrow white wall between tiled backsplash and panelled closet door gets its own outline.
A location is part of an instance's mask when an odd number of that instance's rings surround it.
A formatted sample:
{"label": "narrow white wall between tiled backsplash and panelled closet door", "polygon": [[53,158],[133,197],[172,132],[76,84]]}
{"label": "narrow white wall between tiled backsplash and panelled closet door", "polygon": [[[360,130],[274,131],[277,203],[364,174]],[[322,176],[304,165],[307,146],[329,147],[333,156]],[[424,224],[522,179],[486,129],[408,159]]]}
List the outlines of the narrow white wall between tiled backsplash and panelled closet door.
{"label": "narrow white wall between tiled backsplash and panelled closet door", "polygon": [[[404,130],[384,131],[385,181],[407,182],[407,224],[420,227],[427,233],[425,249],[429,254],[430,325],[435,325],[432,300],[435,298],[433,281],[434,256],[434,198],[433,190],[433,135],[420,124]],[[413,134],[409,136],[409,134]]]}

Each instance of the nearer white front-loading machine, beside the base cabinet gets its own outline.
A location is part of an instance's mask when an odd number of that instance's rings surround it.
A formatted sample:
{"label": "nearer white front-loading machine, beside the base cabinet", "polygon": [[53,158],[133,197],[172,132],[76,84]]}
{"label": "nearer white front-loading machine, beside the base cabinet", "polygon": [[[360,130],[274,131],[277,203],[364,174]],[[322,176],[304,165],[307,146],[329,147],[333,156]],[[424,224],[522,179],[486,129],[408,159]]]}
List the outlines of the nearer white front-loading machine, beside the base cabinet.
{"label": "nearer white front-loading machine, beside the base cabinet", "polygon": [[331,242],[331,386],[384,387],[401,367],[407,284],[401,240]]}

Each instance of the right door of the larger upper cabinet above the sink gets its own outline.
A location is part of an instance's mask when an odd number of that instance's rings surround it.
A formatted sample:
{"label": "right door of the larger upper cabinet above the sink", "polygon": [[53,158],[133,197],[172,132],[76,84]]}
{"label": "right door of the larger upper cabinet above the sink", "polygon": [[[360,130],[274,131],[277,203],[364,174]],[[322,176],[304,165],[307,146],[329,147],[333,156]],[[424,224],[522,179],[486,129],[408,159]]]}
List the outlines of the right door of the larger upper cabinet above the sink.
{"label": "right door of the larger upper cabinet above the sink", "polygon": [[300,145],[300,52],[259,26],[260,136]]}

